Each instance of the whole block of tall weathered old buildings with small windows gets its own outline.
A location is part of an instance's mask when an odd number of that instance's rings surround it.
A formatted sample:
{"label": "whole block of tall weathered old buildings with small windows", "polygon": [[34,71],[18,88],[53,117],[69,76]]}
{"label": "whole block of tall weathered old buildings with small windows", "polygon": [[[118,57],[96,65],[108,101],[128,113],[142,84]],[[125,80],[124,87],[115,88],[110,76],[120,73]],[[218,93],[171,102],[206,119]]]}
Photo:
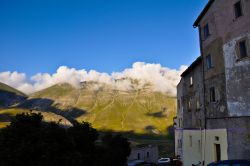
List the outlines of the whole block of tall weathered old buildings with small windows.
{"label": "whole block of tall weathered old buildings with small windows", "polygon": [[[199,29],[201,68],[192,64],[177,87],[176,139],[182,146],[176,154],[182,152],[184,165],[250,159],[250,0],[210,0],[194,27]],[[186,85],[195,70],[200,70],[202,81],[193,77],[192,82],[201,84],[200,89]],[[193,113],[192,88],[200,92],[198,115]],[[190,157],[192,150],[196,157]]]}

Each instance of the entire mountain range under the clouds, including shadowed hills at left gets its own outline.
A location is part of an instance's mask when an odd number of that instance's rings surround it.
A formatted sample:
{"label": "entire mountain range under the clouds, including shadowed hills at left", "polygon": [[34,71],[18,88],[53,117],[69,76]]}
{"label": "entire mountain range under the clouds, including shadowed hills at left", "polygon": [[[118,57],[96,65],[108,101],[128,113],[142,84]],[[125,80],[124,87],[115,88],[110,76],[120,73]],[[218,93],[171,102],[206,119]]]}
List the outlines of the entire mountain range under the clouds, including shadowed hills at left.
{"label": "entire mountain range under the clouds, including shadowed hills at left", "polygon": [[[51,113],[59,116],[54,121],[63,118],[67,125],[87,121],[100,131],[167,136],[176,114],[176,99],[153,91],[150,83],[138,86],[136,80],[128,91],[90,81],[77,87],[60,83],[30,95],[0,83],[0,121],[3,112],[25,111]],[[6,118],[4,121],[8,124]]]}

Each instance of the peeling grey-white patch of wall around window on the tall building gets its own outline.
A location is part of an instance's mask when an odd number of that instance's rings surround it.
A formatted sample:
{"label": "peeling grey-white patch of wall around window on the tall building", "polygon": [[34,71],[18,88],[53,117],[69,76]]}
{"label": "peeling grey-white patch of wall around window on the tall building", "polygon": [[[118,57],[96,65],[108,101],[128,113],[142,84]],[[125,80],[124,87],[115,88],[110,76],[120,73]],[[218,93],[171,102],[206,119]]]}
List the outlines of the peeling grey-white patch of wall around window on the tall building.
{"label": "peeling grey-white patch of wall around window on the tall building", "polygon": [[[237,42],[246,39],[249,57],[238,60]],[[250,33],[242,34],[223,46],[225,58],[225,77],[227,107],[230,116],[250,116]]]}

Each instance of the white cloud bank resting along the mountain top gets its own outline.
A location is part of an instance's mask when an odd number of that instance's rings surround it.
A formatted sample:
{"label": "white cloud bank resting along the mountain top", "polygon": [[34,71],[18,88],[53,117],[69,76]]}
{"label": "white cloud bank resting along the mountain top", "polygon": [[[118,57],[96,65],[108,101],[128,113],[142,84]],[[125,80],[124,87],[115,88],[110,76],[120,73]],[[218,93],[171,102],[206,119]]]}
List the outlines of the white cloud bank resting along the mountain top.
{"label": "white cloud bank resting along the mountain top", "polygon": [[186,66],[181,66],[176,70],[163,67],[160,64],[136,62],[132,68],[108,74],[95,70],[77,70],[61,66],[54,74],[38,73],[31,78],[27,78],[26,74],[17,71],[0,72],[0,82],[30,94],[58,83],[70,83],[79,86],[80,82],[84,81],[98,82],[100,86],[101,84],[107,84],[117,90],[130,90],[132,88],[131,80],[138,80],[138,86],[150,83],[152,90],[175,96],[180,74],[185,69]]}

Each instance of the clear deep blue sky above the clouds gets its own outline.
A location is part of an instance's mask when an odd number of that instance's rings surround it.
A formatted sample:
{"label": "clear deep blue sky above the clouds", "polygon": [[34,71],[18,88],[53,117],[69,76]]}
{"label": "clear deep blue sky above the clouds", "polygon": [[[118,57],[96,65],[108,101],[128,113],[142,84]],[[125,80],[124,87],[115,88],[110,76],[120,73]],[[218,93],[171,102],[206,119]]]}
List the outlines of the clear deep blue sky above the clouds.
{"label": "clear deep blue sky above the clouds", "polygon": [[111,73],[137,61],[178,69],[199,55],[192,24],[206,2],[1,0],[0,72]]}

